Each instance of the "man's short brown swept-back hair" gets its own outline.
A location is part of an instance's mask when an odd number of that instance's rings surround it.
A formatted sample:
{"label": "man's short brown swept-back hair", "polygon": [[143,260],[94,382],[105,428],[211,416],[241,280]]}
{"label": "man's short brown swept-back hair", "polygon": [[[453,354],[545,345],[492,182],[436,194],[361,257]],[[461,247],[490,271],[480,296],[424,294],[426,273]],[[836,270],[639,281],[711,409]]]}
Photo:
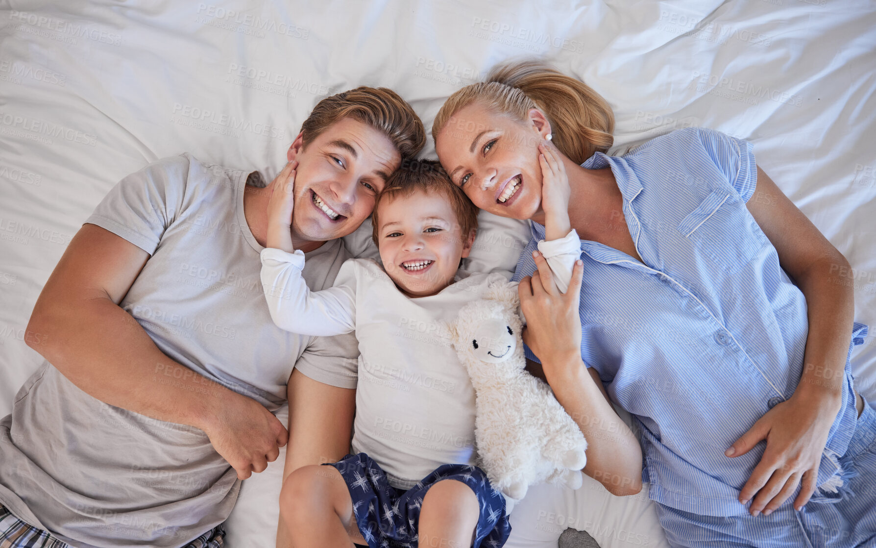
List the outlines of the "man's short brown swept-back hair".
{"label": "man's short brown swept-back hair", "polygon": [[388,88],[343,91],[322,99],[301,125],[304,146],[319,137],[329,125],[351,117],[383,133],[401,154],[413,158],[426,144],[426,130],[420,117],[399,94]]}

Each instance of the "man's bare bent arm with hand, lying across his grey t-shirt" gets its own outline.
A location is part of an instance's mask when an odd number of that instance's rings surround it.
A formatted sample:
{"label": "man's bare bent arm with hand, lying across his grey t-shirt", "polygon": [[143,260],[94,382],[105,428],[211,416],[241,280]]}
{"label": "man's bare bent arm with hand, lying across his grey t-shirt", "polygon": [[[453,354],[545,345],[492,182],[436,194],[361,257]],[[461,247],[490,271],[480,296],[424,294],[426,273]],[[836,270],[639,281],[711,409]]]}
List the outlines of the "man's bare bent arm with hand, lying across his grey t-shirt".
{"label": "man's bare bent arm with hand, lying across his grey t-shirt", "polygon": [[205,431],[241,479],[286,443],[263,406],[168,358],[118,306],[149,260],[138,246],[84,224],[33,308],[28,345],[102,402]]}

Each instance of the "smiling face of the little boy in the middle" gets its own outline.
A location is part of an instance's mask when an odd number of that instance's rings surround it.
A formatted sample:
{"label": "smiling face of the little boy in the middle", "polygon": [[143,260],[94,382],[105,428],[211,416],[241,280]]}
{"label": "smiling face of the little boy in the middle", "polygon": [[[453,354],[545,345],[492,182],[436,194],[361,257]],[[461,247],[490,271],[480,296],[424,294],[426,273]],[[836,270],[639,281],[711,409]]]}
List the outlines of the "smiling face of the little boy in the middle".
{"label": "smiling face of the little boy in the middle", "polygon": [[406,295],[434,295],[453,282],[459,260],[468,257],[475,231],[463,238],[448,199],[414,191],[383,200],[378,248],[386,274]]}

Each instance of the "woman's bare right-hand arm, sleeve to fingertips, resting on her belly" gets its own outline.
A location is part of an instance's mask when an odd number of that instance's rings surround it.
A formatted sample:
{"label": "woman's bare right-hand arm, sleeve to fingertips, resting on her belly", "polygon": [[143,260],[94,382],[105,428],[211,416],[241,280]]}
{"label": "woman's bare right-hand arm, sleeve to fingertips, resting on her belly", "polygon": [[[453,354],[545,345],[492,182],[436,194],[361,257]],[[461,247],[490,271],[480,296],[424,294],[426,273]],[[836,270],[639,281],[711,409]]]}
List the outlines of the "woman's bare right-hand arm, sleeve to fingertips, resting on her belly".
{"label": "woman's bare right-hand arm, sleeve to fingertips, resting on her belly", "polygon": [[754,497],[752,515],[768,515],[801,482],[795,509],[815,492],[822,452],[842,404],[855,304],[851,284],[837,283],[839,273],[851,272],[848,261],[760,167],[747,206],[778,252],[781,267],[805,295],[809,319],[802,377],[794,395],[770,409],[727,452],[743,455],[767,440],[739,501]]}

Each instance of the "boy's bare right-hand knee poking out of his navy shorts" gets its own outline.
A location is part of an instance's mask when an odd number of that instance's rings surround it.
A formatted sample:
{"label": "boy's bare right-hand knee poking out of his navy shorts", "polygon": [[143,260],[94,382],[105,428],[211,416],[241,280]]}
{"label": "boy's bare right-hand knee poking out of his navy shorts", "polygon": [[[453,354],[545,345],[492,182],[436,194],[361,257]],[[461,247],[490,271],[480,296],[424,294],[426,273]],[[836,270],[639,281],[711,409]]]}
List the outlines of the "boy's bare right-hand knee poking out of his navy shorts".
{"label": "boy's bare right-hand knee poking out of his navy shorts", "polygon": [[420,548],[466,548],[474,541],[480,505],[462,481],[441,480],[423,497]]}

